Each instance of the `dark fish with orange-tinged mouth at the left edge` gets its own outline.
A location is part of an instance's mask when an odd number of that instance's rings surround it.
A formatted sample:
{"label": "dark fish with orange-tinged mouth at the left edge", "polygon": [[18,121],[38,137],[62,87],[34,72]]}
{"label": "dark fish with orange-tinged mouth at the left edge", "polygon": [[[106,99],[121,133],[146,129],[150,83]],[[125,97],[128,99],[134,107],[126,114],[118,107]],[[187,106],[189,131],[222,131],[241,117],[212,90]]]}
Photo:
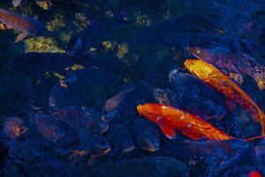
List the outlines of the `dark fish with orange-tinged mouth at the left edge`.
{"label": "dark fish with orange-tinged mouth at the left edge", "polygon": [[4,121],[1,130],[4,137],[12,139],[27,132],[27,127],[22,126],[23,120],[18,117],[6,117],[2,118],[1,121]]}

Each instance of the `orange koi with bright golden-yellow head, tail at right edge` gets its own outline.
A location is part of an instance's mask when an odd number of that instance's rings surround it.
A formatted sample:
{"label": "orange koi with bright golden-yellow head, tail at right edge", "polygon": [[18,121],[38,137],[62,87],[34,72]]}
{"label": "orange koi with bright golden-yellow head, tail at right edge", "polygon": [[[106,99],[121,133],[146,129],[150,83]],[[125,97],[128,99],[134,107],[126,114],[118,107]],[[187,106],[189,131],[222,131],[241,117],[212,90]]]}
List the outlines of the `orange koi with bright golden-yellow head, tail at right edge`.
{"label": "orange koi with bright golden-yellow head, tail at right edge", "polygon": [[187,59],[184,65],[191,73],[250,112],[254,120],[260,123],[261,134],[265,135],[264,113],[245,91],[240,89],[235,82],[231,81],[229,76],[219,71],[214,65],[202,60]]}

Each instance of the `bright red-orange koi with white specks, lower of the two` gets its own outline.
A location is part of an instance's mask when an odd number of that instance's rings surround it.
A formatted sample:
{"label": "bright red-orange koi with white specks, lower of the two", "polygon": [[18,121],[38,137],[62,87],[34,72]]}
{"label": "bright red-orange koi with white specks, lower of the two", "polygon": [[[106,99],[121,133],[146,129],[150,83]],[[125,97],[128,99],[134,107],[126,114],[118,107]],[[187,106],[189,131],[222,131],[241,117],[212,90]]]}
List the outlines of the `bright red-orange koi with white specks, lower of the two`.
{"label": "bright red-orange koi with white specks, lower of the two", "polygon": [[187,112],[182,112],[164,104],[143,104],[137,106],[138,112],[158,124],[163,134],[170,139],[176,136],[175,130],[193,140],[229,140],[233,137],[225,134],[207,121]]}

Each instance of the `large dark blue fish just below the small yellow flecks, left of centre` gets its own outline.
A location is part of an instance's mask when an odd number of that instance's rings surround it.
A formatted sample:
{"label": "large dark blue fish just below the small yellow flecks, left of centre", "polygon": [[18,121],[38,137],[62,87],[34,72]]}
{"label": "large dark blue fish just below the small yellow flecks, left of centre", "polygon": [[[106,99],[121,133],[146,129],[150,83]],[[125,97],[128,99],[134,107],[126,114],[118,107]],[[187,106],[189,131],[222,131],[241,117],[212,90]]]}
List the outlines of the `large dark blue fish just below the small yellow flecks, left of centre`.
{"label": "large dark blue fish just below the small yellow flecks, left of centre", "polygon": [[72,72],[64,78],[66,88],[57,84],[49,91],[49,106],[60,109],[64,106],[102,107],[113,94],[118,83],[113,73],[87,67]]}

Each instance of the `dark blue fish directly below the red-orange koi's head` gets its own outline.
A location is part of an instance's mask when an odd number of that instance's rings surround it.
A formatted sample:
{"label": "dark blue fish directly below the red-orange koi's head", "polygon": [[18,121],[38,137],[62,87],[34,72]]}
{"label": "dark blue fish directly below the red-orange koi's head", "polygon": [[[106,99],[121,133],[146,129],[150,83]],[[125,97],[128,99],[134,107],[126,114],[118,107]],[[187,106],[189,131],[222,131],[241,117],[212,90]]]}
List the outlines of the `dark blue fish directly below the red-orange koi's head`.
{"label": "dark blue fish directly below the red-orange koi's head", "polygon": [[154,125],[146,119],[135,119],[131,126],[137,148],[154,152],[160,149],[160,139]]}

